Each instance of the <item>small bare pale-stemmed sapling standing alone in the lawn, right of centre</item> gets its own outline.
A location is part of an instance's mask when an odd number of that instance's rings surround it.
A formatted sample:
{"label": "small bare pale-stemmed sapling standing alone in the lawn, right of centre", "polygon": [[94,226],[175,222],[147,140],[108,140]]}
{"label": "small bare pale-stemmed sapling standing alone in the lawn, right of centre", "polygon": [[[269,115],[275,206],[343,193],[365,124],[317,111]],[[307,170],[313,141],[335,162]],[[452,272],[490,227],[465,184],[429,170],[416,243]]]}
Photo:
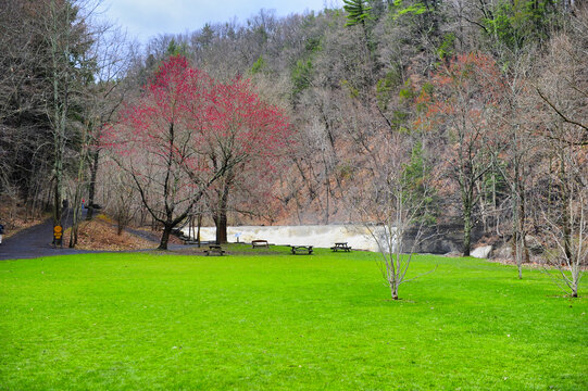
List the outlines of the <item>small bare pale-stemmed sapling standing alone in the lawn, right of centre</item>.
{"label": "small bare pale-stemmed sapling standing alone in the lawn, right of centre", "polygon": [[[376,176],[371,181],[373,188],[358,189],[354,199],[363,220],[376,223],[367,223],[365,227],[378,245],[381,276],[392,300],[398,300],[400,286],[422,276],[406,278],[413,252],[424,239],[431,188],[427,173],[418,182],[411,177],[420,163],[406,152],[411,148],[402,135],[383,137],[378,149],[378,166],[372,171]],[[412,243],[408,240],[409,231],[414,235],[410,239]]]}

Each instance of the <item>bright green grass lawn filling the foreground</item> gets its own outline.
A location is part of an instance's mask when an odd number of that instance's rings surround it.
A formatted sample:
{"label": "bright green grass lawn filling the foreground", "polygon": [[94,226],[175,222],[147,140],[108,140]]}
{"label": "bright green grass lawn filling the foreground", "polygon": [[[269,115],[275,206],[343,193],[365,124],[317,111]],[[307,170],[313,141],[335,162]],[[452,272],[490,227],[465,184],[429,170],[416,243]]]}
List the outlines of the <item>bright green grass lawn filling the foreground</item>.
{"label": "bright green grass lawn filling the foreground", "polygon": [[588,301],[541,272],[418,256],[393,302],[377,254],[240,249],[0,262],[0,389],[588,389]]}

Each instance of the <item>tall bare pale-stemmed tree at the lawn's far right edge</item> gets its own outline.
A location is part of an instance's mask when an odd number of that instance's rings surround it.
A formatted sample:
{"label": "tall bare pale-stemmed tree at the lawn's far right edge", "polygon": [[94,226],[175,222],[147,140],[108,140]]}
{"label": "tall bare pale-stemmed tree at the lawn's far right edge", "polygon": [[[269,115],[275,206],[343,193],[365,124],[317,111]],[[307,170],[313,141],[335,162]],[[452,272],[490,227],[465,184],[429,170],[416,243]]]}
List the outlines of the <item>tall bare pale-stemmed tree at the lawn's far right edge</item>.
{"label": "tall bare pale-stemmed tree at the lawn's far right edge", "polygon": [[588,263],[588,8],[579,8],[566,30],[555,35],[536,85],[536,126],[545,140],[543,182],[538,192],[538,230],[559,285],[578,295]]}

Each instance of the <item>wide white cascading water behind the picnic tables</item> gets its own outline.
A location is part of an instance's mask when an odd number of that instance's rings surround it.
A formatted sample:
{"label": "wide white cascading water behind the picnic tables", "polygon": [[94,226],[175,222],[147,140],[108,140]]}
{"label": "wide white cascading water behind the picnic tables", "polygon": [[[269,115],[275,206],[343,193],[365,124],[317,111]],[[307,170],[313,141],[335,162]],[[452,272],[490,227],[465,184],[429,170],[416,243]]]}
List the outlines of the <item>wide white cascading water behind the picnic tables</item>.
{"label": "wide white cascading water behind the picnic tables", "polygon": [[[188,229],[183,229],[188,235]],[[215,240],[214,227],[200,228],[200,240]],[[306,225],[306,226],[239,226],[227,228],[229,242],[250,243],[264,239],[272,244],[314,245],[330,248],[336,242],[347,242],[353,249],[378,251],[370,230],[362,225]]]}

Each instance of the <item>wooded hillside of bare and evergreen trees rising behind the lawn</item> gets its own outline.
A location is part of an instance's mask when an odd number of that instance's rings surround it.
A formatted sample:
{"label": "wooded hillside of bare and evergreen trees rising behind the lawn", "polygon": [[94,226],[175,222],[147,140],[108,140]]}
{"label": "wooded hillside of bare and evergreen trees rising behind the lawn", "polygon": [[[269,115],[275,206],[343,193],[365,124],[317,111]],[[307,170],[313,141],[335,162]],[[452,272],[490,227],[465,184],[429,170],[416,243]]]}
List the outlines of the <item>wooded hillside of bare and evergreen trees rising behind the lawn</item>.
{"label": "wooded hillside of bare and evergreen trees rising behind the lawn", "polygon": [[[346,0],[287,17],[261,10],[245,24],[162,35],[145,48],[74,1],[8,5],[4,203],[28,213],[51,204],[58,222],[63,199],[85,199],[170,230],[202,217],[217,226],[380,223],[402,205],[412,224],[462,226],[466,255],[477,229],[511,243],[520,261],[529,248],[586,258],[581,1]],[[191,94],[165,94],[180,102],[168,110],[157,91],[179,91],[178,77],[192,72],[201,76],[186,87]],[[165,121],[129,121],[137,108],[162,110]],[[138,174],[141,163],[128,157],[137,152],[113,148],[129,140],[122,129],[155,126],[170,148],[146,142],[142,156],[168,156],[167,176],[150,157]],[[170,177],[190,185],[174,198]]]}

